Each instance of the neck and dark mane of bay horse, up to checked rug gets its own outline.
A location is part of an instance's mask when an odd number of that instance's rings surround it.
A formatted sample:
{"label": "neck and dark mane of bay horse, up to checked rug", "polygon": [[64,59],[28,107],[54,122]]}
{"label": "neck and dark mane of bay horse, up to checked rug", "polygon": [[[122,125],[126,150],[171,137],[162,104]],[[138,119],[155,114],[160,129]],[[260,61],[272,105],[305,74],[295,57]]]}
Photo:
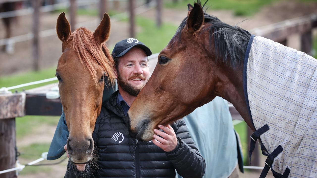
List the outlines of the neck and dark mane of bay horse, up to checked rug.
{"label": "neck and dark mane of bay horse, up to checked rug", "polygon": [[[209,48],[204,48],[206,49],[204,53],[207,53],[207,56],[211,56],[207,60],[213,60],[213,62],[209,64],[215,65],[216,67],[210,66],[210,68],[217,71],[214,72],[214,74],[218,75],[216,77],[218,79],[217,84],[211,92],[232,103],[248,126],[254,130],[243,89],[245,52],[241,52],[243,50],[241,50],[241,46],[238,46],[237,43],[228,41],[228,38],[233,38],[237,33],[241,36],[240,38],[248,38],[250,34],[239,27],[233,27],[221,22],[217,17],[210,16],[206,13],[204,13],[204,16],[205,22],[200,32],[198,32],[198,36],[202,34],[204,34],[202,35],[203,37],[209,36],[209,38],[204,37],[204,40],[200,41],[205,43],[205,46],[210,46]],[[211,50],[208,50],[210,48]]]}

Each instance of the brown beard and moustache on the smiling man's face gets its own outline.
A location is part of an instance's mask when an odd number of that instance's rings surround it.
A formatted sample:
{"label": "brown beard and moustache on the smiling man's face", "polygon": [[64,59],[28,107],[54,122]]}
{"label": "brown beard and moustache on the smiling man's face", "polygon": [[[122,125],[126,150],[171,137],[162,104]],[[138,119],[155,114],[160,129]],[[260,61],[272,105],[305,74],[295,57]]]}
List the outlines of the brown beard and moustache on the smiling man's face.
{"label": "brown beard and moustache on the smiling man's face", "polygon": [[[133,78],[140,78],[142,80],[145,80],[145,77],[143,75],[133,75],[132,77],[129,78],[129,80],[133,79]],[[126,91],[127,93],[129,93],[132,96],[138,96],[139,92],[142,90],[142,88],[144,87],[144,85],[146,84],[147,81],[142,86],[136,87],[136,86],[129,84],[126,80],[123,79],[123,77],[120,75],[120,73],[118,73],[117,82],[118,82],[118,85],[124,91]]]}

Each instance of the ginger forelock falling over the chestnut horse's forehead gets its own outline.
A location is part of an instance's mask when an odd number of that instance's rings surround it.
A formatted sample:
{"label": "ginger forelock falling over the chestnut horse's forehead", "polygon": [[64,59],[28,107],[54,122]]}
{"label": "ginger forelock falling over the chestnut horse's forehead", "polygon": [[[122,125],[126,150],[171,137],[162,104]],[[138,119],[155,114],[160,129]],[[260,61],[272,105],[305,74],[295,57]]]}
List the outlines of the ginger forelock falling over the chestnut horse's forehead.
{"label": "ginger forelock falling over the chestnut horse's forehead", "polygon": [[76,29],[67,42],[77,54],[81,64],[87,67],[96,84],[99,79],[95,75],[94,63],[107,72],[109,86],[114,84],[114,61],[105,43],[100,46],[100,43],[94,38],[94,34],[84,27]]}

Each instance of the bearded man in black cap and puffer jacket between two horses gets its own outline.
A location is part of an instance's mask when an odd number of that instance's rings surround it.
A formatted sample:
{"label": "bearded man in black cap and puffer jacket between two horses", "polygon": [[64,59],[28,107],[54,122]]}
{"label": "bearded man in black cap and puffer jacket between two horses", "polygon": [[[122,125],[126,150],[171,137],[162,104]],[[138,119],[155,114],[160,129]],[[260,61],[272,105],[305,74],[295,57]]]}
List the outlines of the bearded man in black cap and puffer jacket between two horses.
{"label": "bearded man in black cap and puffer jacket between two horses", "polygon": [[[134,38],[115,45],[113,59],[119,90],[103,104],[96,120],[93,138],[97,160],[91,165],[76,165],[80,171],[69,164],[65,177],[175,178],[175,169],[184,178],[204,175],[204,158],[184,120],[159,125],[160,130],[154,130],[154,139],[149,142],[135,140],[128,134],[126,112],[149,79],[147,56],[151,54],[149,48]],[[96,164],[99,168],[94,167]]]}

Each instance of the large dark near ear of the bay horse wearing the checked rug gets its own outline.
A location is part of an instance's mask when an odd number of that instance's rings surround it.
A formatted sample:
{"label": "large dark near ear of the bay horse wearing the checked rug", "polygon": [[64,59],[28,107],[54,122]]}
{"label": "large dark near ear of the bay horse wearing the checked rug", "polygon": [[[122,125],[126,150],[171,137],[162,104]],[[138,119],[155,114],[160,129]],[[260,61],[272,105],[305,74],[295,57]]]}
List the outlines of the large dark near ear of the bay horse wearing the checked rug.
{"label": "large dark near ear of the bay horse wearing the checked rug", "polygon": [[195,3],[187,18],[186,26],[188,32],[198,31],[204,23],[204,11],[203,8]]}

